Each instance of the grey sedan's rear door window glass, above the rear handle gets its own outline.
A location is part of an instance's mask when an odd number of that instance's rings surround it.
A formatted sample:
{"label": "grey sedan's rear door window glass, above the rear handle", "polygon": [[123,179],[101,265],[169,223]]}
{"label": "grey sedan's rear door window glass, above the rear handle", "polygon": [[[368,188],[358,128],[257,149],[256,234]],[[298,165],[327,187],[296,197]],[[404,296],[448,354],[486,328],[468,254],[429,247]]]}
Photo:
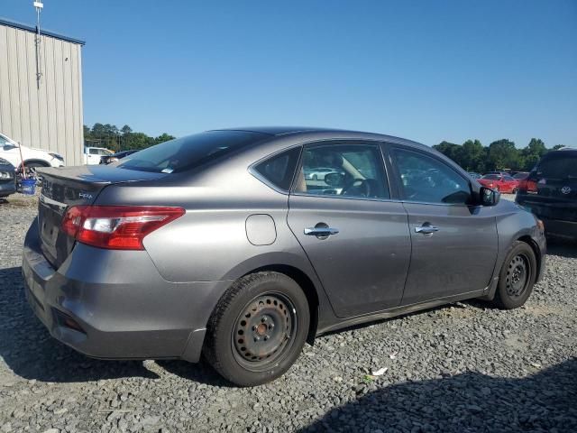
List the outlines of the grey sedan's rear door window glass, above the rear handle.
{"label": "grey sedan's rear door window glass, above the rear handle", "polygon": [[390,198],[377,144],[305,147],[295,192],[346,198]]}

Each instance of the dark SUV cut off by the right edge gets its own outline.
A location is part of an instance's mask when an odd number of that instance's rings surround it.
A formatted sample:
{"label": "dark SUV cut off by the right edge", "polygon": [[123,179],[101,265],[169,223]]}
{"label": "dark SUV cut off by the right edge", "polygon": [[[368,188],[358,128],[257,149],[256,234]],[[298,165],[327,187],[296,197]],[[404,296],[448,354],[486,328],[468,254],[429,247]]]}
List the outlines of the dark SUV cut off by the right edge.
{"label": "dark SUV cut off by the right edge", "polygon": [[577,149],[546,153],[521,180],[516,201],[544,221],[547,235],[577,239]]}

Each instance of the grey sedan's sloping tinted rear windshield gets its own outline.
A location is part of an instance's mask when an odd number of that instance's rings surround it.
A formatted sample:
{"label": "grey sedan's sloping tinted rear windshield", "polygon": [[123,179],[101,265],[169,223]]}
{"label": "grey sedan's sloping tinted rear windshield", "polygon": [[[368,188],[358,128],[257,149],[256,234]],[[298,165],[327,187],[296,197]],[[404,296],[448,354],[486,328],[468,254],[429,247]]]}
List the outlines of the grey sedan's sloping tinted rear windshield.
{"label": "grey sedan's sloping tinted rear windshield", "polygon": [[151,146],[125,157],[119,168],[176,173],[228,155],[267,135],[248,131],[207,131]]}

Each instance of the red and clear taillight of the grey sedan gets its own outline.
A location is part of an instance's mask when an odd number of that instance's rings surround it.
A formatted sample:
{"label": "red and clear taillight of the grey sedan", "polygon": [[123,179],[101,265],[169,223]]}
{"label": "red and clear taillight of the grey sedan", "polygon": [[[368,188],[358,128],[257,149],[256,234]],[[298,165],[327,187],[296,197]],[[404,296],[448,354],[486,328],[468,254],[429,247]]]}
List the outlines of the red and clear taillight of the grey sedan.
{"label": "red and clear taillight of the grey sedan", "polygon": [[144,236],[184,215],[182,207],[73,206],[62,231],[82,244],[113,250],[143,250]]}

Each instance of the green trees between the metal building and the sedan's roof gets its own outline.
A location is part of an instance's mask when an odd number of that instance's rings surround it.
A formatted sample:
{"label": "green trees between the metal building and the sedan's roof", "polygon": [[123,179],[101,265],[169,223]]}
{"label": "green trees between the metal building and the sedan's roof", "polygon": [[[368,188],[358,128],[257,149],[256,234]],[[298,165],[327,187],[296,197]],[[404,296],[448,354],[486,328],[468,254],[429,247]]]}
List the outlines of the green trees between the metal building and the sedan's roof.
{"label": "green trees between the metal building and the sedan's roof", "polygon": [[144,149],[154,144],[168,142],[176,137],[161,134],[151,137],[144,133],[135,133],[133,128],[125,124],[118,129],[114,124],[93,124],[92,128],[84,125],[84,145],[105,147],[113,152]]}

